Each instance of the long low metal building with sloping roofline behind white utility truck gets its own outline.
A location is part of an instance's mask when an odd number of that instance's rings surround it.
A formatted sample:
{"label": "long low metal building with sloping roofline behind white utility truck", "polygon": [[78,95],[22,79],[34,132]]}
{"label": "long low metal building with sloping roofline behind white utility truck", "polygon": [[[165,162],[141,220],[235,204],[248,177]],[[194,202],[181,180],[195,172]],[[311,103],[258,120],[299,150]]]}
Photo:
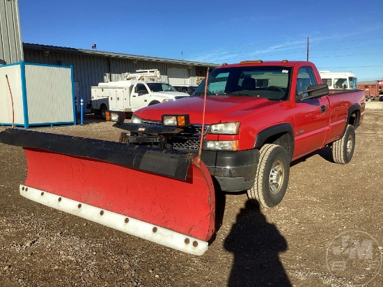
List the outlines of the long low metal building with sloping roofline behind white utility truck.
{"label": "long low metal building with sloping roofline behind white utility truck", "polygon": [[[123,80],[125,72],[157,69],[161,81],[170,84],[199,84],[206,75],[207,68],[215,68],[213,63],[200,63],[176,59],[137,56],[113,52],[102,52],[70,47],[57,47],[23,43],[24,61],[47,65],[73,67],[75,95],[84,96],[84,102],[91,100],[91,86],[100,82]],[[77,104],[79,101],[77,101]]]}

